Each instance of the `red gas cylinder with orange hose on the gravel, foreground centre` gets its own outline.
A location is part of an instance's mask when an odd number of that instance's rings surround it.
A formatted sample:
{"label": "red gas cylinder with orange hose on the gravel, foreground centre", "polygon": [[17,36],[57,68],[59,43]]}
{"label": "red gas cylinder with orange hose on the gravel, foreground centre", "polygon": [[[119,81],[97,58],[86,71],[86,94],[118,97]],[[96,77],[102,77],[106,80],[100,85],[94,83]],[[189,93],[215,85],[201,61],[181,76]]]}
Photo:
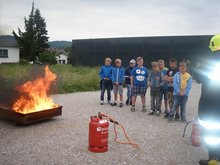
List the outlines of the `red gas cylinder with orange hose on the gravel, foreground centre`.
{"label": "red gas cylinder with orange hose on the gravel, foreground centre", "polygon": [[97,116],[91,116],[89,123],[89,151],[108,151],[109,122]]}

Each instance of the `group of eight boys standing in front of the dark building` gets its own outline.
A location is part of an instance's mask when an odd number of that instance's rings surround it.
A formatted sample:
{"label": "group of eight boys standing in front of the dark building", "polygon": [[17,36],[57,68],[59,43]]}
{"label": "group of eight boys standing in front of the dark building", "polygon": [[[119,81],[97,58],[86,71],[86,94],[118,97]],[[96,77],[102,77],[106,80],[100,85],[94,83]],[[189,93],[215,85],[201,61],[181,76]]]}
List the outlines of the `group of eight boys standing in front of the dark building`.
{"label": "group of eight boys standing in front of the dark building", "polygon": [[[175,120],[186,121],[185,109],[192,87],[192,77],[187,72],[187,64],[181,62],[177,68],[177,60],[170,59],[170,68],[164,66],[164,61],[152,62],[152,71],[149,72],[143,66],[144,60],[138,57],[131,59],[129,66],[124,70],[122,61],[115,60],[115,67],[111,66],[111,59],[105,59],[105,65],[100,69],[100,104],[104,104],[104,93],[107,89],[107,101],[112,106],[117,106],[119,94],[119,107],[123,107],[123,82],[127,87],[126,105],[131,105],[134,112],[137,96],[141,96],[142,111],[146,112],[145,95],[150,87],[151,108],[150,115],[161,113],[162,100],[164,100],[165,117],[171,122]],[[113,89],[114,101],[111,102],[111,90]],[[180,108],[179,108],[180,107]]]}

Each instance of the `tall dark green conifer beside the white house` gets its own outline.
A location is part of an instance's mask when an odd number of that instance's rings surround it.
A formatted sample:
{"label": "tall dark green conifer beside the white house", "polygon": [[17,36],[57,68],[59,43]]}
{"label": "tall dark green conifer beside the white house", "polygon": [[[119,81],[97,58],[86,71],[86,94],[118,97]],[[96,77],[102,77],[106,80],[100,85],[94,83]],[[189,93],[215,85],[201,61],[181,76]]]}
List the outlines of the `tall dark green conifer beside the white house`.
{"label": "tall dark green conifer beside the white house", "polygon": [[29,18],[24,18],[25,31],[18,28],[18,34],[13,30],[12,34],[21,48],[21,58],[35,61],[40,53],[43,53],[48,45],[47,29],[45,19],[41,16],[40,10],[32,4]]}

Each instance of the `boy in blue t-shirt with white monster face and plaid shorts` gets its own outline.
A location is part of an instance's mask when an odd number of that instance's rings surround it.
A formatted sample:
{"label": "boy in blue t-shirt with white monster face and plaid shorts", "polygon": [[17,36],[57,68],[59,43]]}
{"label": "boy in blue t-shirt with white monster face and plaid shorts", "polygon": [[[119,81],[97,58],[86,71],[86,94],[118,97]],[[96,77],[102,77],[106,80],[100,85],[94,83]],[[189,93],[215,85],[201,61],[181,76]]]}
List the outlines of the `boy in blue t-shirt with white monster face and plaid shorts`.
{"label": "boy in blue t-shirt with white monster face and plaid shorts", "polygon": [[148,70],[143,66],[144,60],[142,57],[138,57],[137,67],[132,69],[131,72],[131,89],[132,89],[132,107],[131,111],[135,111],[135,103],[138,95],[141,96],[142,111],[146,112],[145,107],[145,95],[147,92],[147,78]]}

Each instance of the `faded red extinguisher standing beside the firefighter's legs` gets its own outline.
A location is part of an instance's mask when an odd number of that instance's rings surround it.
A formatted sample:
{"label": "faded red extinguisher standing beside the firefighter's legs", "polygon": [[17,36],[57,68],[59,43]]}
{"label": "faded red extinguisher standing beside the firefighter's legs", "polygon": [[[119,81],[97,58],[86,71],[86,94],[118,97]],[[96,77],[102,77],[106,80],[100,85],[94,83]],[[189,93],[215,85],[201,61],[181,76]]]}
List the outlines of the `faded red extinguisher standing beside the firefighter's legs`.
{"label": "faded red extinguisher standing beside the firefighter's legs", "polygon": [[200,146],[202,142],[202,131],[197,122],[193,122],[192,124],[191,142],[194,146]]}

